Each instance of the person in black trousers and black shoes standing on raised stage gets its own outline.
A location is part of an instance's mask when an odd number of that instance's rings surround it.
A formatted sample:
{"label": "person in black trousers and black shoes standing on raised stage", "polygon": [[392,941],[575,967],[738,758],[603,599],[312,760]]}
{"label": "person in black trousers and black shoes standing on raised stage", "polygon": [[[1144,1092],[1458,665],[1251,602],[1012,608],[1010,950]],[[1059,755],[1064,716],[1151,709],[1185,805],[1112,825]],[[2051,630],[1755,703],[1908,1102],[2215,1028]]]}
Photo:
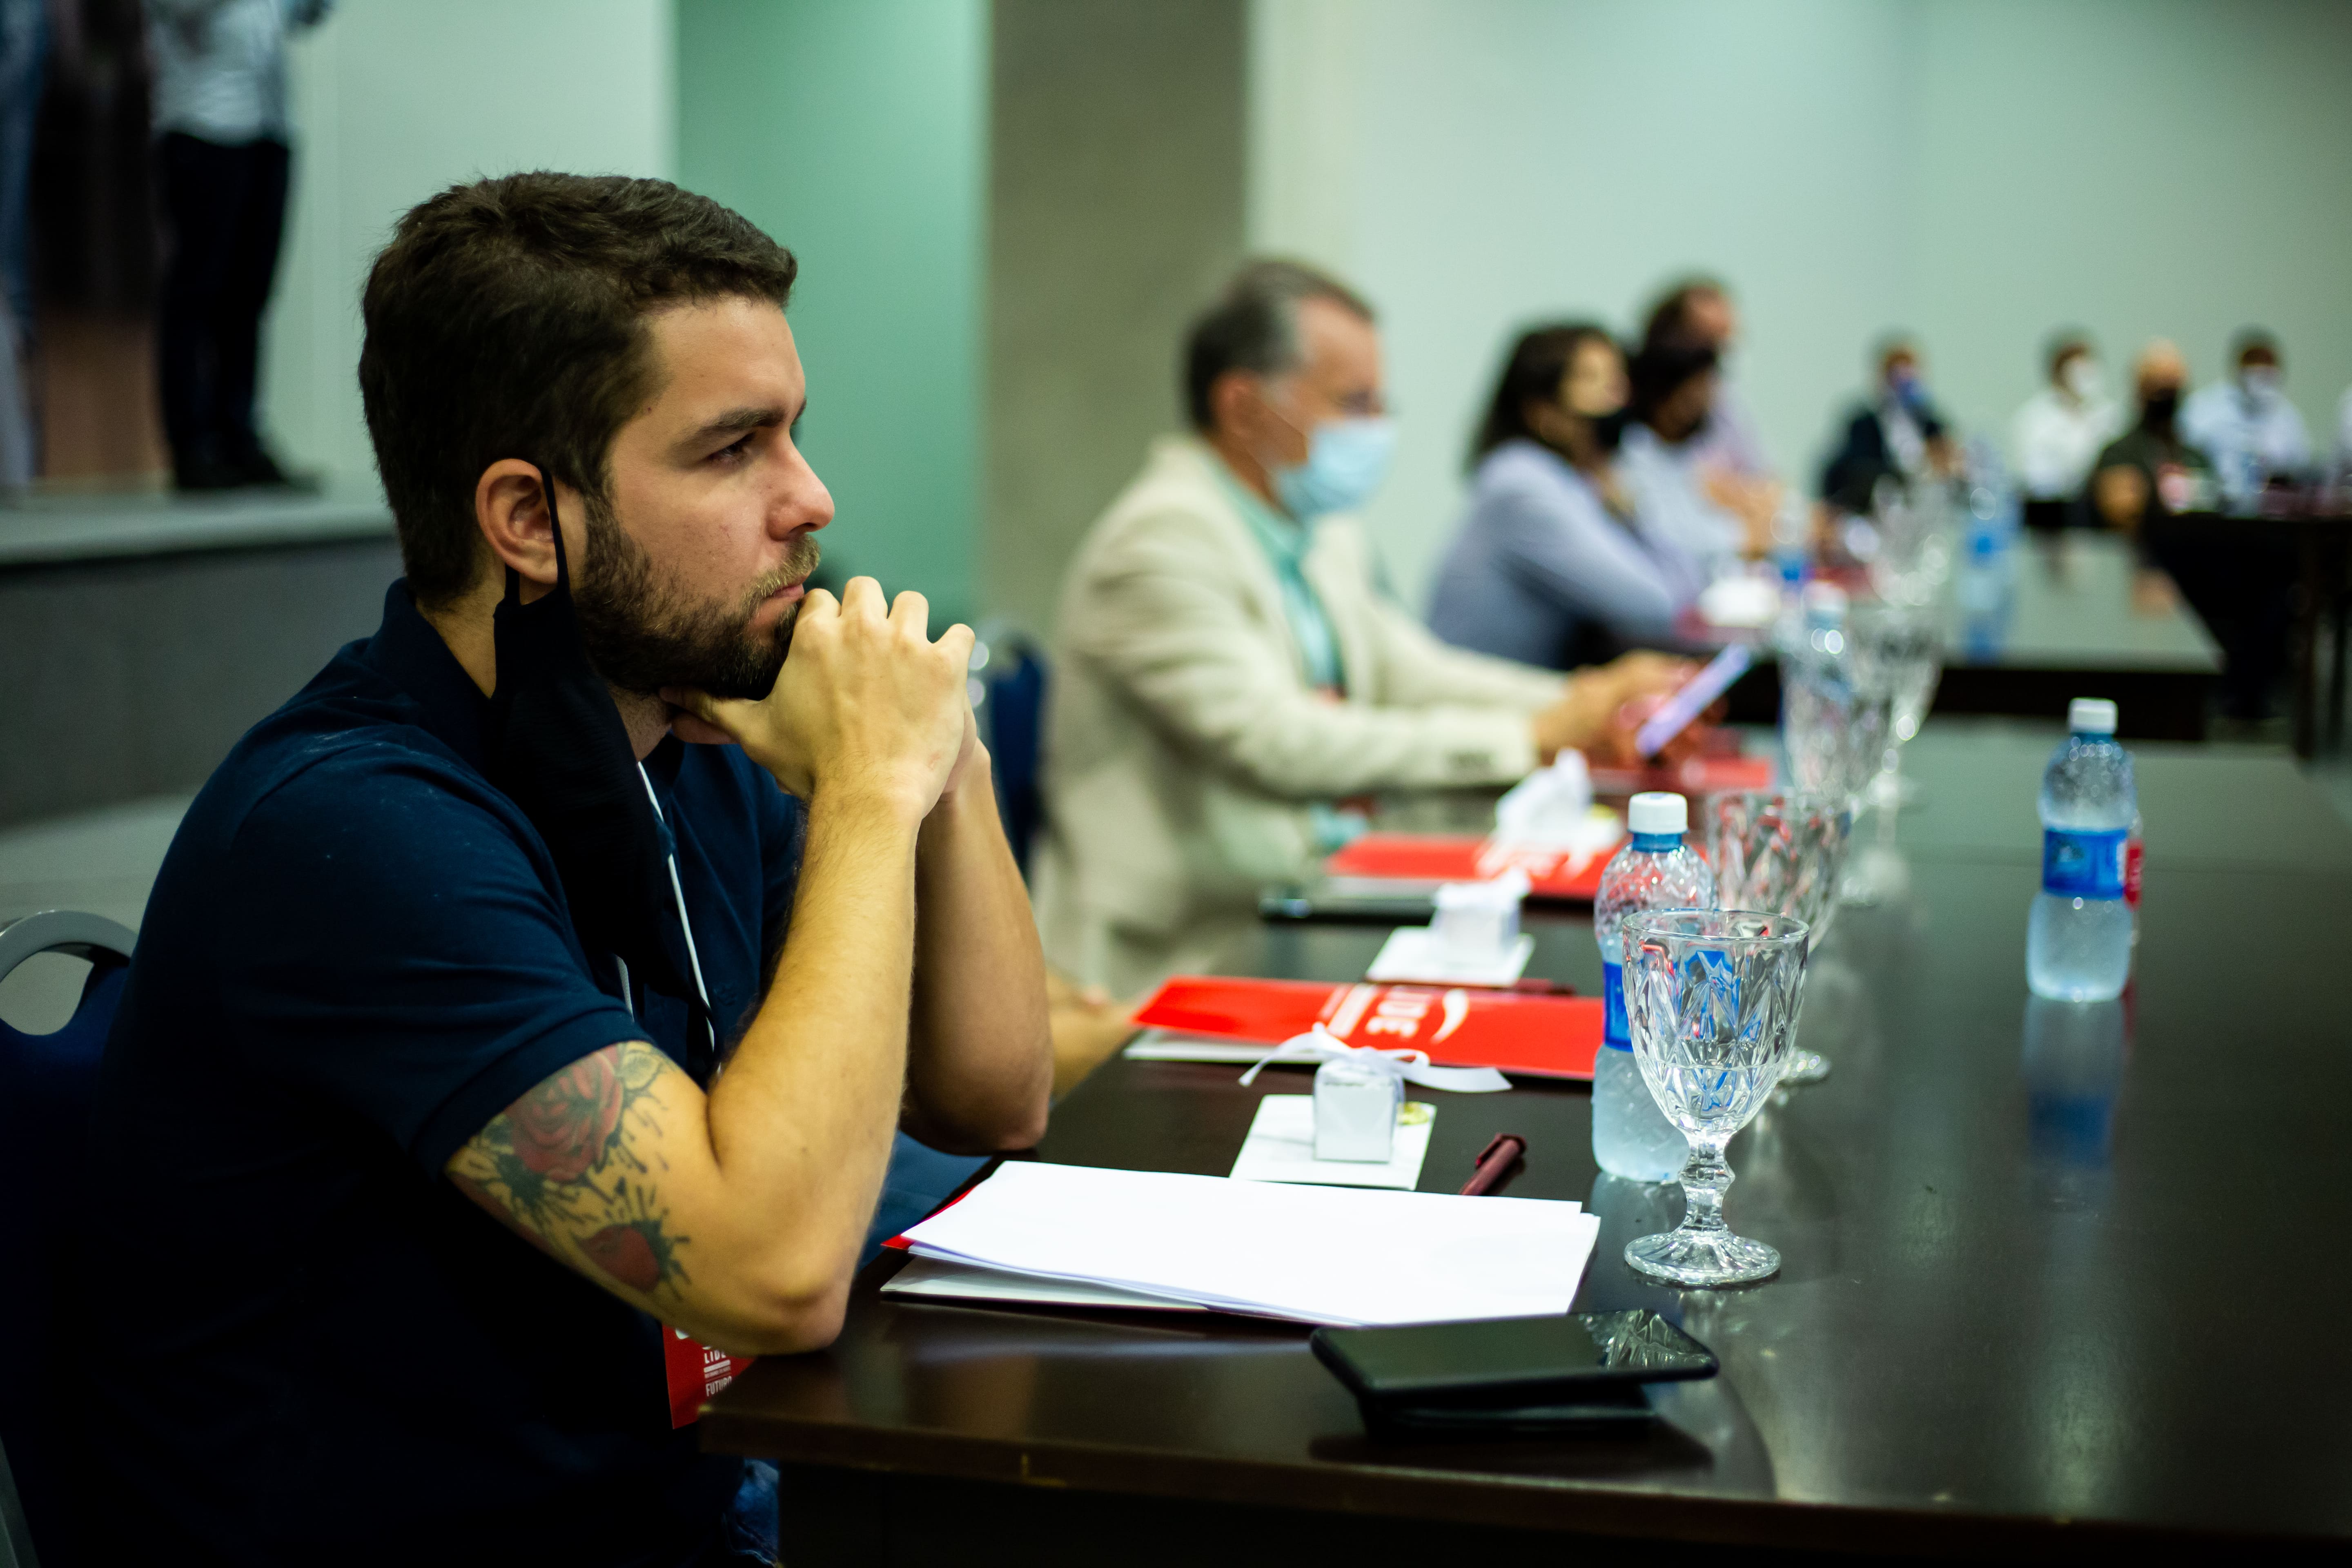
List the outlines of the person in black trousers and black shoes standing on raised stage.
{"label": "person in black trousers and black shoes standing on raised stage", "polygon": [[287,484],[254,428],[261,313],[285,235],[285,40],[334,0],[146,0],[155,183],[169,256],[158,320],[176,489]]}

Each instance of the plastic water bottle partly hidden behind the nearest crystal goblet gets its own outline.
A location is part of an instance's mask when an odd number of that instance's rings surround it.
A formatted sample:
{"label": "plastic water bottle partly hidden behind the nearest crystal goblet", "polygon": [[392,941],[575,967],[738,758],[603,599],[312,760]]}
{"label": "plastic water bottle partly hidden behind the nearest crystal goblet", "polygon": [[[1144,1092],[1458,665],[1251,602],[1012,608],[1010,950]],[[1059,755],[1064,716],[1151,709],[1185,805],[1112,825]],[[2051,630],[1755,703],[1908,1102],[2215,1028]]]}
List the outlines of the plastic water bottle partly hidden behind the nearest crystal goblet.
{"label": "plastic water bottle partly hidden behind the nearest crystal goblet", "polygon": [[1712,910],[1715,872],[1682,842],[1691,809],[1679,795],[1635,795],[1625,809],[1632,842],[1602,870],[1592,900],[1592,936],[1602,945],[1606,1023],[1592,1063],[1592,1159],[1609,1175],[1665,1182],[1682,1175],[1691,1145],[1665,1119],[1642,1065],[1632,1060],[1625,1023],[1625,961],[1621,933],[1628,914],[1644,910]]}

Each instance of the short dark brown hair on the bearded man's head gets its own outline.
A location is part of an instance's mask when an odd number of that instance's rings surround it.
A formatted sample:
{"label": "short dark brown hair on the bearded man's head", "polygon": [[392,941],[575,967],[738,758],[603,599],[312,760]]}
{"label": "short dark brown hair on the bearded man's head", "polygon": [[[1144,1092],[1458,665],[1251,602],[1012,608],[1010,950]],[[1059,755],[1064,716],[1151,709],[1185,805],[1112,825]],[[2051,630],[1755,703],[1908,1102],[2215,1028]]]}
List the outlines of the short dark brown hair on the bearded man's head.
{"label": "short dark brown hair on the bearded man's head", "polygon": [[609,498],[612,442],[654,393],[647,315],[724,296],[781,308],[797,270],[739,214],[659,179],[508,174],[412,207],[360,301],[360,397],[419,604],[473,588],[473,491],[499,458]]}

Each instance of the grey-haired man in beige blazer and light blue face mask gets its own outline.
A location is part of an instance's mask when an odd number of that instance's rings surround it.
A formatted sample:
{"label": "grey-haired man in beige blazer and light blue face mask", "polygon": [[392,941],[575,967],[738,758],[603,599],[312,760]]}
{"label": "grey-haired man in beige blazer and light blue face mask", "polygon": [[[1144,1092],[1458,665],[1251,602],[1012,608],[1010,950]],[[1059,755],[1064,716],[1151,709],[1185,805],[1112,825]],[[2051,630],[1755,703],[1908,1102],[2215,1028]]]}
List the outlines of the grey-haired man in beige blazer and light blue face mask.
{"label": "grey-haired man in beige blazer and light blue face mask", "polygon": [[1463,654],[1376,588],[1348,512],[1390,423],[1381,336],[1345,284],[1247,266],[1195,322],[1183,393],[1195,435],[1155,442],[1070,564],[1047,719],[1047,952],[1117,994],[1230,959],[1258,889],[1362,825],[1341,802],[1625,748],[1618,710],[1689,675]]}

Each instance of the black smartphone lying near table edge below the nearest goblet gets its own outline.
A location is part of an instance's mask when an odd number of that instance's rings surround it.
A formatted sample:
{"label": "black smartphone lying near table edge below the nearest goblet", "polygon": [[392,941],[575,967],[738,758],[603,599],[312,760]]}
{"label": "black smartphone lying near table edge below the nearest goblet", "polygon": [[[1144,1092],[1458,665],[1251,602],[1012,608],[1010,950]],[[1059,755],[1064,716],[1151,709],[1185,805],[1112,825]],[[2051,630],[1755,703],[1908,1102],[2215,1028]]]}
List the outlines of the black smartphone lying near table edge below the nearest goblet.
{"label": "black smartphone lying near table edge below the nearest goblet", "polygon": [[1308,1345],[1367,1408],[1536,1408],[1719,1371],[1712,1349],[1646,1307],[1317,1328]]}

